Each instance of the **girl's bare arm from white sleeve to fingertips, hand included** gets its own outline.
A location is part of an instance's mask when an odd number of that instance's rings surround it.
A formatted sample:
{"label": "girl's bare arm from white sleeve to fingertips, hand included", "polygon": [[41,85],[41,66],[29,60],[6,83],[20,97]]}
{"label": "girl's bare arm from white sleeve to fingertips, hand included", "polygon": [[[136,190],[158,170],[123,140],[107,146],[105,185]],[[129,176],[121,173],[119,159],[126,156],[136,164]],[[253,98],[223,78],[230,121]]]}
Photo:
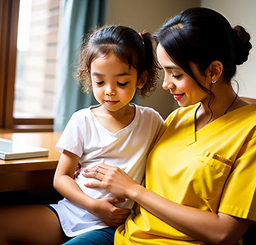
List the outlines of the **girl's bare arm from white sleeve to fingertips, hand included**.
{"label": "girl's bare arm from white sleeve to fingertips, hand included", "polygon": [[63,151],[55,172],[54,188],[73,204],[86,209],[95,215],[106,225],[119,226],[125,222],[131,210],[127,208],[116,208],[113,204],[124,202],[125,199],[107,197],[93,199],[84,194],[73,179],[79,157],[69,151]]}

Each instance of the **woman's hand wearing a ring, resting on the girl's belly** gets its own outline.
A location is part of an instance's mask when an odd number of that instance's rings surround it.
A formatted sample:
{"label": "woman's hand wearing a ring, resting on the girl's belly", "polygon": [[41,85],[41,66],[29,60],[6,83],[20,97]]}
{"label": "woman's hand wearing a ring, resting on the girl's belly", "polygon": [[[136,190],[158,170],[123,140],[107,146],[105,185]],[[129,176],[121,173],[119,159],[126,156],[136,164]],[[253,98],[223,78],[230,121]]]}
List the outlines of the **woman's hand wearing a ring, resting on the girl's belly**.
{"label": "woman's hand wearing a ring, resting on the girl's belly", "polygon": [[93,168],[88,168],[83,176],[101,180],[101,182],[85,184],[86,187],[103,188],[120,198],[130,198],[133,189],[139,185],[120,168],[104,163],[100,163]]}

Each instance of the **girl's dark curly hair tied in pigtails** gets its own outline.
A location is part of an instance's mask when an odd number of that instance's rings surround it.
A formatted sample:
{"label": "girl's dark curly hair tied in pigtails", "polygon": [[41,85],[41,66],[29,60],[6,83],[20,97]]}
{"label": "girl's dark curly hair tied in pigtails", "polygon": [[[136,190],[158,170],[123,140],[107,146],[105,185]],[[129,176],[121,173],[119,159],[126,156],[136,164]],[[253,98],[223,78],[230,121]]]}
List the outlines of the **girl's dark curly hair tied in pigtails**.
{"label": "girl's dark curly hair tied in pigtails", "polygon": [[90,38],[84,38],[79,66],[78,82],[83,92],[92,88],[90,66],[97,57],[114,54],[120,61],[127,63],[138,72],[138,79],[143,71],[148,77],[143,88],[137,90],[140,97],[156,89],[158,79],[158,65],[152,44],[151,34],[140,36],[137,31],[126,26],[103,26],[96,29]]}

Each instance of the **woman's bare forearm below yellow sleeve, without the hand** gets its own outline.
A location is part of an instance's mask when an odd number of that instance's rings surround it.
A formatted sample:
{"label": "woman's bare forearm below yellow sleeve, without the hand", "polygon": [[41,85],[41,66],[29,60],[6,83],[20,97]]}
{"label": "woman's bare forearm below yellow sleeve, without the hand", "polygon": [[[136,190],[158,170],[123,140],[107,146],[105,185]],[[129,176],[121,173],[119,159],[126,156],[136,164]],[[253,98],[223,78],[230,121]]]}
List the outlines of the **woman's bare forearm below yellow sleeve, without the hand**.
{"label": "woman's bare forearm below yellow sleeve, without the hand", "polygon": [[140,185],[136,185],[128,196],[167,224],[208,244],[234,245],[240,239],[239,234],[238,237],[228,237],[227,231],[232,228],[229,228],[225,214],[179,205]]}

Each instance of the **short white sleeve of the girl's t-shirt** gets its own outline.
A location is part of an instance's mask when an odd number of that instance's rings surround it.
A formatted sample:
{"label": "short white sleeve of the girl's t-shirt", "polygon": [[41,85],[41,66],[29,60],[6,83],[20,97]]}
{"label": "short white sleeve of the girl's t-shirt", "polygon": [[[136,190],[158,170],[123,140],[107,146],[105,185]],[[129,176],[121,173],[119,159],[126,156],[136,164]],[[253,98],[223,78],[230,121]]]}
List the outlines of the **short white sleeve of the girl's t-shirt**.
{"label": "short white sleeve of the girl's t-shirt", "polygon": [[68,121],[55,148],[61,153],[66,150],[81,157],[84,152],[84,128],[79,114],[75,112]]}

